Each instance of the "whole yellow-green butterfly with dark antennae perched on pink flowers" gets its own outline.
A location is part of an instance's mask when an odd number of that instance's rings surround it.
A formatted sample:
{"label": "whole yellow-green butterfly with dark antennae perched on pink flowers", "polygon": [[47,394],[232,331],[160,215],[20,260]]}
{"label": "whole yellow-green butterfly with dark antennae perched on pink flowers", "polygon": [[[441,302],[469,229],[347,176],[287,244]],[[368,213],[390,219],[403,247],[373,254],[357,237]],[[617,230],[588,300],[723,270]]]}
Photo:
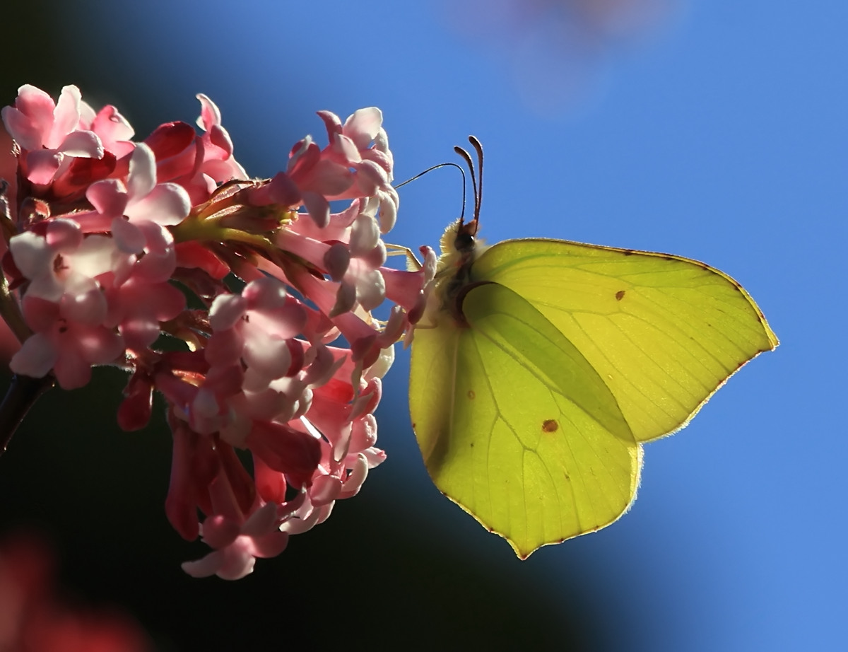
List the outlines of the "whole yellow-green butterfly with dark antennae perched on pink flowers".
{"label": "whole yellow-green butterfly with dark antennae perched on pink flowers", "polygon": [[683,428],[778,346],[733,278],[680,256],[555,239],[442,236],[416,328],[410,413],[439,490],[522,559],[596,531],[636,496],[642,444]]}

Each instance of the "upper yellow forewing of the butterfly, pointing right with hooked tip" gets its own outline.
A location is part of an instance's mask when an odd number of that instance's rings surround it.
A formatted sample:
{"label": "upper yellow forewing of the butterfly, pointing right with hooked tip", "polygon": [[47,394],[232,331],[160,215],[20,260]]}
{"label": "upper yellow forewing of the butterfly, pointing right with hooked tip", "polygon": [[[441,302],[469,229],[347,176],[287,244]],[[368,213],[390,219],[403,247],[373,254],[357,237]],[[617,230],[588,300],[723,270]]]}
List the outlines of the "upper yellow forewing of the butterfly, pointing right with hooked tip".
{"label": "upper yellow forewing of the butterfly, pointing right with hooked tip", "polygon": [[679,256],[508,240],[473,280],[512,289],[600,374],[637,441],[682,428],[743,364],[778,346],[734,279]]}

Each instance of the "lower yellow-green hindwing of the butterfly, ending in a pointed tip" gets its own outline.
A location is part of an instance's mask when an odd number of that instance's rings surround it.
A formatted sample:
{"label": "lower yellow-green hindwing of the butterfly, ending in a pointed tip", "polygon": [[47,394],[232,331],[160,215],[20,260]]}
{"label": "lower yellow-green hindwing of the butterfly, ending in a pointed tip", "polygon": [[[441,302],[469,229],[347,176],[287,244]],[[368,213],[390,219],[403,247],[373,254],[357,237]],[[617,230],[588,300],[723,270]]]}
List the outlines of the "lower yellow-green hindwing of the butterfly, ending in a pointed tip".
{"label": "lower yellow-green hindwing of the butterfly, ending in a pointed tip", "polygon": [[641,447],[591,363],[533,305],[496,283],[468,291],[468,323],[416,329],[413,427],[432,481],[527,557],[616,520]]}

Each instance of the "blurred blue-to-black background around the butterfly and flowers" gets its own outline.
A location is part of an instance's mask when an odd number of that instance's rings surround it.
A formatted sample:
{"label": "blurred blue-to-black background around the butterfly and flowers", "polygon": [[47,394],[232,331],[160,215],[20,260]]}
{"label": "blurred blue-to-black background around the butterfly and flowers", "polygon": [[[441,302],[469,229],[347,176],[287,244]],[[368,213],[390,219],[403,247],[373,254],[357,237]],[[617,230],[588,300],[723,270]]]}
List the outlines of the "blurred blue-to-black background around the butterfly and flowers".
{"label": "blurred blue-to-black background around the butterfly and flowers", "polygon": [[[399,351],[379,412],[388,462],[236,584],[181,576],[178,562],[202,548],[165,523],[170,436],[117,432],[123,379],[100,374],[102,414],[84,393],[52,392],[0,460],[0,526],[47,531],[81,596],[120,602],[161,649],[233,649],[222,619],[243,649],[282,647],[304,623],[326,647],[352,637],[351,649],[845,649],[844,3],[148,0],[14,12],[2,104],[25,82],[53,94],[75,83],[143,138],[193,121],[194,94],[206,93],[259,177],[284,168],[304,134],[323,142],[315,110],[379,106],[397,180],[455,160],[473,133],[487,157],[485,239],[706,261],[749,290],[782,342],[647,447],[626,517],[526,562],[428,481]],[[460,178],[435,171],[400,196],[387,240],[435,246],[460,211]]]}

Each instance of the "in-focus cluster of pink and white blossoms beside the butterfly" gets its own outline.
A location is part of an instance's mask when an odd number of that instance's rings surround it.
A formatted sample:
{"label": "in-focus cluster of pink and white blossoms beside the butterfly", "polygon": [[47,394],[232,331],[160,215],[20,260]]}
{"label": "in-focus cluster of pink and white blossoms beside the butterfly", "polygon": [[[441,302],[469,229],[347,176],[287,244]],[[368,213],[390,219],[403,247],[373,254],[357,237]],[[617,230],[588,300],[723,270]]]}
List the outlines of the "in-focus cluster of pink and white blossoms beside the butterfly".
{"label": "in-focus cluster of pink and white blossoms beside the butterfly", "polygon": [[[385,458],[381,379],[434,266],[385,266],[398,195],[380,110],[344,122],[321,111],[328,144],[306,137],[285,171],[252,180],[217,107],[198,98],[202,132],[170,122],[137,142],[118,110],[95,112],[76,87],[55,103],[20,87],[2,112],[17,159],[3,314],[20,311],[29,329],[15,374],[70,389],[94,365],[125,368],[123,429],[148,423],[153,391],[165,396],[165,509],[212,548],[183,568],[236,579],[326,520]],[[349,203],[334,211],[335,200]],[[371,311],[386,300],[382,322]]]}

